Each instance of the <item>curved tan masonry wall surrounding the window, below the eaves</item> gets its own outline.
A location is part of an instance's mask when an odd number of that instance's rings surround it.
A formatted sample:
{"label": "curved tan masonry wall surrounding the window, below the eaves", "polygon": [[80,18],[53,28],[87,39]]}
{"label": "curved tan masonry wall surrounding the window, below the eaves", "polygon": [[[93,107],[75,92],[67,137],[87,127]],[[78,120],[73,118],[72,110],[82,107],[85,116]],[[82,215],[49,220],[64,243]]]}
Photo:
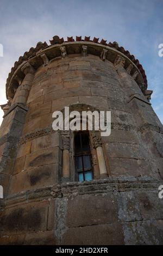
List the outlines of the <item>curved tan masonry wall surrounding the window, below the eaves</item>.
{"label": "curved tan masonry wall surrounding the window, below the eaves", "polygon": [[[111,111],[111,135],[102,137],[108,179],[60,182],[52,113],[72,105]],[[108,60],[69,54],[36,70],[26,107],[14,155],[2,150],[12,166],[1,172],[0,244],[163,244],[163,130],[134,78]],[[11,114],[1,136],[13,131]]]}

